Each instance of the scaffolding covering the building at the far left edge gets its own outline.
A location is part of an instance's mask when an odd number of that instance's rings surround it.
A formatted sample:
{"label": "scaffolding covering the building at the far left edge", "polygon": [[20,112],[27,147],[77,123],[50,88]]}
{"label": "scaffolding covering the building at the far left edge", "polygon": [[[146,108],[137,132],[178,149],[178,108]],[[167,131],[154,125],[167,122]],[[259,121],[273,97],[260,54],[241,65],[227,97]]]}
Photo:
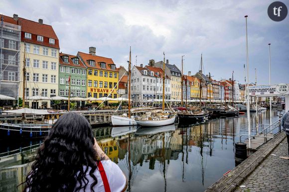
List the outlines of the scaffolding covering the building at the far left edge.
{"label": "scaffolding covering the building at the far left edge", "polygon": [[18,98],[21,26],[0,21],[0,95]]}

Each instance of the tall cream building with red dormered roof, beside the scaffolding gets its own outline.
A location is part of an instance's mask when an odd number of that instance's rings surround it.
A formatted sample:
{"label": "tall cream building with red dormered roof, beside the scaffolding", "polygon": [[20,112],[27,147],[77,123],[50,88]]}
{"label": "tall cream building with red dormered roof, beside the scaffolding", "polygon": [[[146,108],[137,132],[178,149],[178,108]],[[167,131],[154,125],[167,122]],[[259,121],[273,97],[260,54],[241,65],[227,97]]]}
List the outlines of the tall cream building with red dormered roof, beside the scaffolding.
{"label": "tall cream building with red dormered roof, beside the scaffolding", "polygon": [[[50,108],[50,100],[33,97],[58,96],[59,41],[51,25],[17,18],[21,22],[19,97],[23,94],[23,60],[25,46],[25,105]],[[29,98],[30,97],[30,98]],[[31,98],[32,97],[32,98]]]}

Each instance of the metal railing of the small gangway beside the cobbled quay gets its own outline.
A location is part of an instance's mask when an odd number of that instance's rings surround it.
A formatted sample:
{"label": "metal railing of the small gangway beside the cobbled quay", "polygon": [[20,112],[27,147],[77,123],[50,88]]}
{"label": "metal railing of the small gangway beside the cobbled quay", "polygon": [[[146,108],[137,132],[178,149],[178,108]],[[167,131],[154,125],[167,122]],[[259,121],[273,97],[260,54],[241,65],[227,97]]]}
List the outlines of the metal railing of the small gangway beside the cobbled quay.
{"label": "metal railing of the small gangway beside the cobbled quay", "polygon": [[[260,125],[258,125],[256,127],[256,130],[258,130],[259,127],[262,127],[263,129],[260,132],[257,132],[256,135],[250,135],[250,138],[251,137],[253,137],[253,138],[254,137],[262,137],[262,138],[264,138],[264,141],[262,143],[267,143],[268,139],[274,138],[276,135],[278,135],[282,131],[281,130],[281,119],[282,119],[282,116],[279,116],[279,117],[280,118],[277,121],[275,121],[274,123],[272,123],[272,124],[260,124]],[[265,125],[269,125],[269,126],[264,128]],[[276,128],[279,128],[278,132],[273,134],[273,137],[268,136],[268,134],[272,133],[272,131],[275,130]],[[264,134],[264,135],[261,135],[261,134]],[[244,137],[244,136],[248,136],[248,138],[249,138],[249,135],[247,135],[247,134],[240,135],[240,142],[242,142],[242,137]],[[243,140],[245,140],[245,139],[243,139]],[[261,141],[254,141],[254,142],[261,142]]]}

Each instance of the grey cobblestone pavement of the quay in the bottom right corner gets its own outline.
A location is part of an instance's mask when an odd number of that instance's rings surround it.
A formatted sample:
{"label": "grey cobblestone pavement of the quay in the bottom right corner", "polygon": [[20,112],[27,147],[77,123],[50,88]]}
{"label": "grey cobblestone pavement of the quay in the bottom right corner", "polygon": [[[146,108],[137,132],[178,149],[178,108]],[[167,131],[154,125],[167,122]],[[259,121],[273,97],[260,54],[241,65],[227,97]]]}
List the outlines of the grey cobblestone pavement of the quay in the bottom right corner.
{"label": "grey cobblestone pavement of the quay in the bottom right corner", "polygon": [[235,192],[289,192],[289,160],[281,159],[282,156],[288,156],[286,138]]}

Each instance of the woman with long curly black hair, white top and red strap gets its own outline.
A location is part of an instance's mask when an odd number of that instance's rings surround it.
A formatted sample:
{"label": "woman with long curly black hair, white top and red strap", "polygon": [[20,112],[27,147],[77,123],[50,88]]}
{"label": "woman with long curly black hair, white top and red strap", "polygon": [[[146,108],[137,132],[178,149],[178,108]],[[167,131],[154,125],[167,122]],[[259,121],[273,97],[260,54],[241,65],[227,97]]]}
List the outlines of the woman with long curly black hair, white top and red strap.
{"label": "woman with long curly black hair, white top and red strap", "polygon": [[52,126],[23,184],[24,192],[122,192],[127,182],[89,122],[70,112]]}

